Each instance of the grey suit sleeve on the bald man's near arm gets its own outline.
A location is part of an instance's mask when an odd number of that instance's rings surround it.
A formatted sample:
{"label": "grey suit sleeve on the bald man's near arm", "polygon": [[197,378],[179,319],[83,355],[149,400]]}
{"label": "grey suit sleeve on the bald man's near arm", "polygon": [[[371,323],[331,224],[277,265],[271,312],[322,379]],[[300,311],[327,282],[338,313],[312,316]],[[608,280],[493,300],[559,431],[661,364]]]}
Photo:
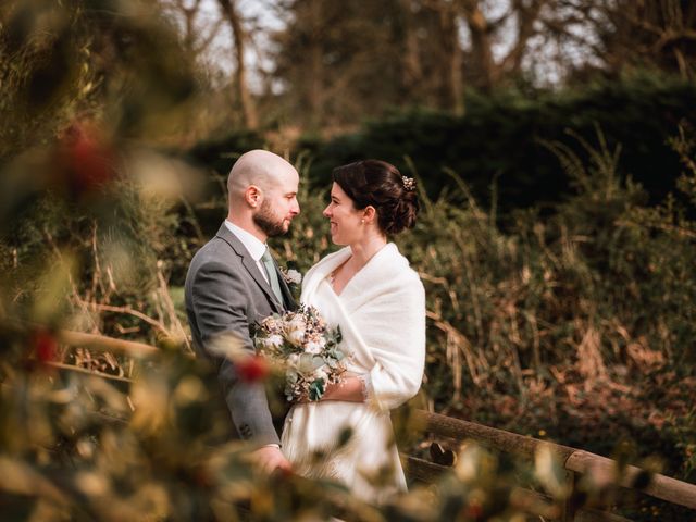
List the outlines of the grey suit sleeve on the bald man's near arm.
{"label": "grey suit sleeve on the bald man's near arm", "polygon": [[221,334],[234,334],[249,355],[254,353],[249,337],[248,297],[239,274],[220,262],[201,265],[192,284],[192,308],[203,350],[217,364],[217,378],[233,423],[245,439],[259,445],[279,444],[262,382],[239,378],[234,363],[210,351]]}

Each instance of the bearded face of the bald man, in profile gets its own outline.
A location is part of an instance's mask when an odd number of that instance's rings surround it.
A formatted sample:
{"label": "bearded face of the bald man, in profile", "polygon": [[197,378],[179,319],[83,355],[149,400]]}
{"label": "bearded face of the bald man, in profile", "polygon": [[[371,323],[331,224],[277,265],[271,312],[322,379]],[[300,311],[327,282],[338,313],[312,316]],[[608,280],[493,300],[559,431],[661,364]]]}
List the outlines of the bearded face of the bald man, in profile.
{"label": "bearded face of the bald man, in profile", "polygon": [[252,219],[269,237],[281,236],[290,227],[293,219],[300,213],[297,202],[299,176],[296,172],[282,176],[275,186],[263,191],[263,200]]}

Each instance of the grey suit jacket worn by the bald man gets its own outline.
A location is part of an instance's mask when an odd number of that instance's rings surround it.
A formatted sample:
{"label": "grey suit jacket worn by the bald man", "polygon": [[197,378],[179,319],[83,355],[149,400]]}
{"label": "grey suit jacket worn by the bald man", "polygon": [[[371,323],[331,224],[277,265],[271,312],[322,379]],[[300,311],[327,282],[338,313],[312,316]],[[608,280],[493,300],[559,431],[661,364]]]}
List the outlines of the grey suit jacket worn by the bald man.
{"label": "grey suit jacket worn by the bald man", "polygon": [[[186,314],[196,352],[216,368],[236,435],[260,445],[279,444],[264,385],[240,380],[232,361],[211,352],[210,343],[217,335],[233,333],[241,339],[244,349],[253,353],[250,328],[273,313],[295,308],[289,288],[279,274],[278,278],[284,303],[278,302],[249,251],[224,223],[194,256],[186,275]],[[282,419],[275,421],[279,425]],[[231,432],[234,437],[235,431]]]}

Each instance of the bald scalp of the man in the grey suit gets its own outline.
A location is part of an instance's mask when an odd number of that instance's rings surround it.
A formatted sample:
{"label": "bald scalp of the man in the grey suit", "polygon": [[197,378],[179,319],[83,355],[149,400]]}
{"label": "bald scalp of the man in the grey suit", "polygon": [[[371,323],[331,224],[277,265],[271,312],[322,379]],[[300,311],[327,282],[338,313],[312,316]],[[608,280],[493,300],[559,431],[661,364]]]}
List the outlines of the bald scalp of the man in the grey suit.
{"label": "bald scalp of the man in the grey suit", "polygon": [[298,178],[295,167],[268,150],[250,150],[239,157],[227,177],[229,207],[244,200],[247,188],[251,185],[263,191]]}

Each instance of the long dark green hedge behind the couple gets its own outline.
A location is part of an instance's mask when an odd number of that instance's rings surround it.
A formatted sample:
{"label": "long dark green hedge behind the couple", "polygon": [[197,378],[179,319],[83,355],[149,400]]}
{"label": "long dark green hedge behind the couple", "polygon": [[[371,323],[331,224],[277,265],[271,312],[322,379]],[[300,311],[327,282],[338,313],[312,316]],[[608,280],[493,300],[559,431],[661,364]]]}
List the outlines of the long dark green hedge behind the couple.
{"label": "long dark green hedge behind the couple", "polygon": [[[647,73],[619,82],[597,80],[583,90],[498,92],[469,96],[467,114],[406,110],[361,130],[326,142],[306,141],[314,152],[310,177],[323,183],[334,166],[365,158],[380,158],[399,169],[413,162],[428,195],[456,190],[450,169],[477,200],[492,201],[497,186],[499,210],[554,206],[569,197],[570,178],[558,170],[544,140],[560,140],[585,158],[567,129],[592,140],[596,126],[607,144],[621,144],[620,171],[639,183],[652,202],[674,188],[679,157],[667,144],[682,119],[696,121],[696,87],[680,79]],[[460,195],[461,196],[461,195]],[[458,199],[461,201],[461,198]]]}

